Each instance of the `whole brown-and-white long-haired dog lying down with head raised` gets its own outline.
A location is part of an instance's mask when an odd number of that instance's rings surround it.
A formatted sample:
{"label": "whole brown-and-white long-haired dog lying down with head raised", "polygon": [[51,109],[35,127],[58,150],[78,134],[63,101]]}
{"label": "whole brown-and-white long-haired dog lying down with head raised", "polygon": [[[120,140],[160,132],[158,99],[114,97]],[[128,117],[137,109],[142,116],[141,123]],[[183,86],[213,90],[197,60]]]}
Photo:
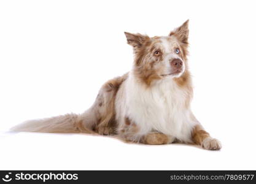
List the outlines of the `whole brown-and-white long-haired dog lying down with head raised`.
{"label": "whole brown-and-white long-haired dog lying down with head raised", "polygon": [[219,150],[190,110],[188,20],[168,36],[125,33],[133,46],[133,69],[107,81],[95,103],[81,115],[26,121],[13,131],[116,134],[130,142],[185,142]]}

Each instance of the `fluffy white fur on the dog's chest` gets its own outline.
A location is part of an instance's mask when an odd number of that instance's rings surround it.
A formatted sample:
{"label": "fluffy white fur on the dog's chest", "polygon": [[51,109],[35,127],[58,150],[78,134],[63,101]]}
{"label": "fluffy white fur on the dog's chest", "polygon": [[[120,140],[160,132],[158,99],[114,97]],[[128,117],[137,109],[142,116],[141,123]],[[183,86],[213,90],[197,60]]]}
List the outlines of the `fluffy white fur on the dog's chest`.
{"label": "fluffy white fur on the dog's chest", "polygon": [[126,115],[140,128],[141,134],[159,131],[190,142],[195,125],[191,111],[185,106],[185,91],[166,78],[151,88],[136,82],[132,75],[126,82]]}

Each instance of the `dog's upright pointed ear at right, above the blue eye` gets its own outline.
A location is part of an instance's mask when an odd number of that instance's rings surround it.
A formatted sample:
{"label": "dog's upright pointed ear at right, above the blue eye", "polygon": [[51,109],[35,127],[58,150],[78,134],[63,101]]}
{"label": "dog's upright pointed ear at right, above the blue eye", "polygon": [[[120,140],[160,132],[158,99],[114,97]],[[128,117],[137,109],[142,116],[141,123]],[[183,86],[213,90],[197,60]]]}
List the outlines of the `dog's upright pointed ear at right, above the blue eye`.
{"label": "dog's upright pointed ear at right, above the blue eye", "polygon": [[183,23],[183,25],[179,26],[179,28],[171,31],[169,36],[176,36],[177,39],[180,40],[183,44],[188,44],[188,20]]}

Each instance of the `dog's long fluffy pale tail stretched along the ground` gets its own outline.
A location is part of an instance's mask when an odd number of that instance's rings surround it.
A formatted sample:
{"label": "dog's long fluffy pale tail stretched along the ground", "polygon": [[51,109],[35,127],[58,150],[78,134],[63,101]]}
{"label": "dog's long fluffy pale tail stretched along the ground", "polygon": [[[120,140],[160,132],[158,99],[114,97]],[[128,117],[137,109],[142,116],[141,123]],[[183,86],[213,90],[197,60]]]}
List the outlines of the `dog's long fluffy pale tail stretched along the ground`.
{"label": "dog's long fluffy pale tail stretched along the ground", "polygon": [[50,132],[71,133],[85,132],[94,133],[93,124],[95,117],[90,110],[77,115],[68,113],[58,117],[44,118],[39,120],[28,120],[10,129],[11,132]]}

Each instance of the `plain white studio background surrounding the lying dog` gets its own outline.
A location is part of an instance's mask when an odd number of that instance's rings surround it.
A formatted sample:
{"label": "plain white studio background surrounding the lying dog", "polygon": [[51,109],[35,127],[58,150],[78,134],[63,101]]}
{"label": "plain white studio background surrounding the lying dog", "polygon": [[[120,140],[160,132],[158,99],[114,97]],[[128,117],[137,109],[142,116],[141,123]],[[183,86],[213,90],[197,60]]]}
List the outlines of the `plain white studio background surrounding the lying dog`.
{"label": "plain white studio background surrounding the lying dog", "polygon": [[[0,169],[256,169],[255,17],[254,1],[1,1]],[[124,31],[167,35],[188,18],[192,108],[221,151],[6,132],[83,112],[130,70]]]}

